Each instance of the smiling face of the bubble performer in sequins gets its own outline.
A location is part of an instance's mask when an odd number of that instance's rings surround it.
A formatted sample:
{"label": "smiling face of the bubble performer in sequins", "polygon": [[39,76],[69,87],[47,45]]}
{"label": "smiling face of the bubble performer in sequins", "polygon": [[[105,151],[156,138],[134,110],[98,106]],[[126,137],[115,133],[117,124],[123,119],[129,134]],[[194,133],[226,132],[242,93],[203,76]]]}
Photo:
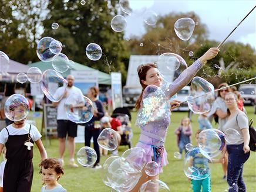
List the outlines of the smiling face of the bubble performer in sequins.
{"label": "smiling face of the bubble performer in sequins", "polygon": [[156,85],[157,87],[160,87],[162,81],[158,68],[150,68],[150,70],[147,71],[146,80],[142,80],[142,83],[145,85]]}

